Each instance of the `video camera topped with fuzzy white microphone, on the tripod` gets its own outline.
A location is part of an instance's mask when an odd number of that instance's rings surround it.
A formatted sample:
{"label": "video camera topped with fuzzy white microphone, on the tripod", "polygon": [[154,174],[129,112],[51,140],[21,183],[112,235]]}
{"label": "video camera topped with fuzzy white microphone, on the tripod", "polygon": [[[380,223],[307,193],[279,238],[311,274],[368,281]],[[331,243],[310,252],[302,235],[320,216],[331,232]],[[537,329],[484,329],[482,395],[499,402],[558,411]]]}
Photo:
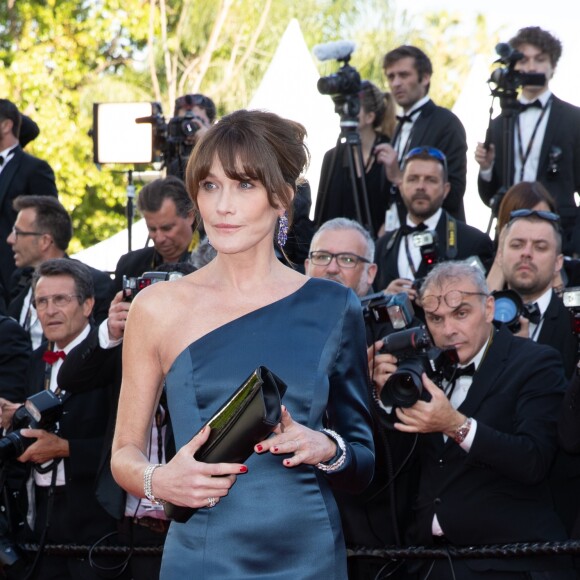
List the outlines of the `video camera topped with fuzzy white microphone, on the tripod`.
{"label": "video camera topped with fuzzy white microphone, on the tripod", "polygon": [[347,40],[318,44],[313,49],[320,61],[334,59],[343,63],[336,73],[318,79],[317,88],[320,94],[331,96],[334,110],[340,115],[340,126],[353,130],[358,127],[361,91],[360,74],[348,64],[354,49],[354,42]]}

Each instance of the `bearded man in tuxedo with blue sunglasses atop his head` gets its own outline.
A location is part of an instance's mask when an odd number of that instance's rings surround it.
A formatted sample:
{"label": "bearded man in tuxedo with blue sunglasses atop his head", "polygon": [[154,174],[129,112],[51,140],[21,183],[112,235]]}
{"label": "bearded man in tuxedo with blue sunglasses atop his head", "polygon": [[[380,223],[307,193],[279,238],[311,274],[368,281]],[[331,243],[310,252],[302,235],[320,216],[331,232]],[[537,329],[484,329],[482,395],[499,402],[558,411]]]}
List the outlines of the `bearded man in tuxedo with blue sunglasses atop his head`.
{"label": "bearded man in tuxedo with blue sunglasses atop his head", "polygon": [[420,232],[412,232],[411,228],[435,232],[438,260],[478,256],[484,266],[491,264],[493,243],[489,236],[455,220],[442,209],[449,191],[446,157],[441,151],[423,147],[407,154],[401,181],[401,197],[407,209],[406,222],[377,241],[377,289],[386,288],[390,294],[407,292],[412,300],[417,297],[413,281],[423,278],[430,264],[415,243]]}

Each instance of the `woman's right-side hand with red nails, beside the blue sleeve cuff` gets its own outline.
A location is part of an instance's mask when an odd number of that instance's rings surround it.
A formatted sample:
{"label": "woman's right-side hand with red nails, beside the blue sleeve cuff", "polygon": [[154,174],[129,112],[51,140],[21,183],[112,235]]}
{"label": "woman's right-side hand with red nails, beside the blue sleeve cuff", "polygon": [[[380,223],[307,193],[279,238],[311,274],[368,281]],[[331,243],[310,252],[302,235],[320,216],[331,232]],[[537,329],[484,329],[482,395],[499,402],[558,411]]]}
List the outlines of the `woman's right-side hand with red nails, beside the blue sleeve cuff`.
{"label": "woman's right-side hand with red nails, beside the blue sleeve cuff", "polygon": [[330,437],[296,423],[284,406],[274,436],[258,443],[254,450],[256,453],[270,451],[274,455],[293,453],[282,462],[284,467],[296,467],[302,463],[316,465],[329,461],[337,452],[336,443]]}

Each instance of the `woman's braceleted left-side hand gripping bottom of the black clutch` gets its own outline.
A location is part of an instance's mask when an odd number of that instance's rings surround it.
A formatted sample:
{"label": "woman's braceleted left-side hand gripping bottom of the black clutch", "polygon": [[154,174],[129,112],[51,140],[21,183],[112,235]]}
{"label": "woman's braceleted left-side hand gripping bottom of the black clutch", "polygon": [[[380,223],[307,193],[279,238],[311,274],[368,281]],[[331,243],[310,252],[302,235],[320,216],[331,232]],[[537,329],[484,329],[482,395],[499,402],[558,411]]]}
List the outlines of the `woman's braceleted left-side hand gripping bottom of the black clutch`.
{"label": "woman's braceleted left-side hand gripping bottom of the black clutch", "polygon": [[236,476],[247,473],[248,468],[240,463],[203,463],[194,459],[209,433],[209,427],[204,427],[169,463],[153,472],[151,489],[155,497],[179,506],[208,507],[210,498],[219,501],[228,495]]}

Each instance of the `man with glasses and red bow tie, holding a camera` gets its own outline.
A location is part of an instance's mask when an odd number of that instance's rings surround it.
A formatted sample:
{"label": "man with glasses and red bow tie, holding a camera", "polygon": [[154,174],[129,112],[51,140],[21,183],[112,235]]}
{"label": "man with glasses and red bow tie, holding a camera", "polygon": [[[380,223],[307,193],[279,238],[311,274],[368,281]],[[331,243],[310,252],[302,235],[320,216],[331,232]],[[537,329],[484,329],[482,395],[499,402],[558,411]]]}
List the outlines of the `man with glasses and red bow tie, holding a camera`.
{"label": "man with glasses and red bow tie, holding a camera", "polygon": [[[50,390],[61,398],[62,414],[56,432],[49,428],[22,431],[35,441],[14,465],[28,468],[28,501],[35,517],[27,519],[25,505],[13,509],[22,518],[21,533],[30,526],[33,542],[43,538],[48,544],[91,545],[115,530],[115,522],[98,504],[94,488],[110,412],[109,394],[107,389],[66,393],[59,388],[57,374],[66,355],[89,334],[95,301],[92,276],[76,260],[46,260],[35,272],[33,292],[48,345],[34,351],[28,392],[15,401],[22,403]],[[6,425],[17,405],[2,403]],[[27,497],[24,489],[14,491],[20,492],[21,499]],[[37,580],[98,577],[87,559],[53,554],[40,556],[33,576]]]}

